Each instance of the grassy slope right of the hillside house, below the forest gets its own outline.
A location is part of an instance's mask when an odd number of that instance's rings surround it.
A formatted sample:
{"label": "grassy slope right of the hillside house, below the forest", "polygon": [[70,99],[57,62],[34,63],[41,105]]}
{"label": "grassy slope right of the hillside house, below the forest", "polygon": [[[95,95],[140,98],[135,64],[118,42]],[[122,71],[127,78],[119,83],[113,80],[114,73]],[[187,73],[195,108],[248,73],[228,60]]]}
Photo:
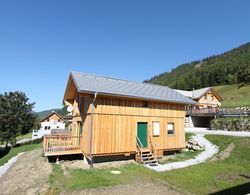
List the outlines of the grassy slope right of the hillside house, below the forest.
{"label": "grassy slope right of the hillside house, below the forest", "polygon": [[222,107],[250,107],[250,85],[238,89],[238,85],[222,85],[213,87],[223,98]]}

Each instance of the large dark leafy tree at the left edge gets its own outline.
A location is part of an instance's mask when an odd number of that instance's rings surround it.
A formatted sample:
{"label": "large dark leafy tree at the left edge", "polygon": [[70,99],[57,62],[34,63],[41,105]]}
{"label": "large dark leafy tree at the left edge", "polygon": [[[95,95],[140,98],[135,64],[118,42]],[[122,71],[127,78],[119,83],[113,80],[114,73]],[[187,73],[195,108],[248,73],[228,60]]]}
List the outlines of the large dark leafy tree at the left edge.
{"label": "large dark leafy tree at the left edge", "polygon": [[30,132],[34,127],[36,115],[23,92],[0,94],[0,140],[6,145],[16,143],[16,136]]}

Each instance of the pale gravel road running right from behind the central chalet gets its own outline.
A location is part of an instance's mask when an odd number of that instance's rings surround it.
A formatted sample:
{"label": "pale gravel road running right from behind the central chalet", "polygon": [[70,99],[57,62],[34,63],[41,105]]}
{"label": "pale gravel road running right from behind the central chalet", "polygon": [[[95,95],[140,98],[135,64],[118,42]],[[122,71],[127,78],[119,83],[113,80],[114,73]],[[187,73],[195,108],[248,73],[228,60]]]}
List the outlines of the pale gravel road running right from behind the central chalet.
{"label": "pale gravel road running right from behind the central chalet", "polygon": [[237,137],[250,137],[250,132],[247,131],[222,131],[222,130],[208,130],[206,128],[185,128],[185,132],[202,134],[202,135],[229,135]]}

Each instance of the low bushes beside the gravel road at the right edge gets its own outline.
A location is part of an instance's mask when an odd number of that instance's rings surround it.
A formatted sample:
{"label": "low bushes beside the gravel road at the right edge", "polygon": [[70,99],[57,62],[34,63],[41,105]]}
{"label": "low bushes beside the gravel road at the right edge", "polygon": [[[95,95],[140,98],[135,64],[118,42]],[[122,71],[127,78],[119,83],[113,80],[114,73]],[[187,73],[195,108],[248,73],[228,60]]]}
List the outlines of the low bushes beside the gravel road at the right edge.
{"label": "low bushes beside the gravel road at the right edge", "polygon": [[210,122],[213,130],[250,131],[250,120],[241,118],[218,118]]}

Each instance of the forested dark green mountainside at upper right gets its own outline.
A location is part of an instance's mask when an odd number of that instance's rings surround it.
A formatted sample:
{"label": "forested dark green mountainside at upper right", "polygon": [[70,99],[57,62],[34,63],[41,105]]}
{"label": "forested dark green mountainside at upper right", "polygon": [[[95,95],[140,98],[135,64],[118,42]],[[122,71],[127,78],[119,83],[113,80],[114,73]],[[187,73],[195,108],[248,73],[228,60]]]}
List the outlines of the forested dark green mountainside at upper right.
{"label": "forested dark green mountainside at upper right", "polygon": [[220,55],[179,65],[144,82],[184,90],[250,83],[250,43]]}

